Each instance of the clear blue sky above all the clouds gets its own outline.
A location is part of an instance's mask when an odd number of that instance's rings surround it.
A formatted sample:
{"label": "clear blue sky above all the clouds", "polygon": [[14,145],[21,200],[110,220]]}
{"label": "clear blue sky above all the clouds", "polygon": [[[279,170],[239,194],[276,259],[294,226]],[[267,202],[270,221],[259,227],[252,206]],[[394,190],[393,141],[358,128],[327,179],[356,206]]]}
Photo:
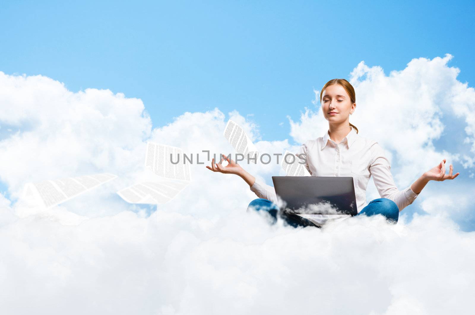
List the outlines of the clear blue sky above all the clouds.
{"label": "clear blue sky above all the clouds", "polygon": [[470,1],[2,1],[0,13],[0,71],[141,98],[154,126],[218,107],[288,139],[286,116],[362,60],[389,74],[450,53],[460,81],[475,75]]}

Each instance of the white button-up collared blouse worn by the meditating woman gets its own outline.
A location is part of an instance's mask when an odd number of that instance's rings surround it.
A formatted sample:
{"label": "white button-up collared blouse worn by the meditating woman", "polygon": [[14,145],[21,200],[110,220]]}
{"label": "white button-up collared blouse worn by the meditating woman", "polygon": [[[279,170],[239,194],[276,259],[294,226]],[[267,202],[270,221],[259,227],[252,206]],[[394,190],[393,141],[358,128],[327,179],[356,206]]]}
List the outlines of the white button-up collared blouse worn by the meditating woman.
{"label": "white button-up collared blouse worn by the meditating woman", "polygon": [[[414,193],[410,186],[402,191],[396,187],[390,171],[390,162],[384,156],[384,151],[378,142],[360,137],[352,126],[350,128],[351,131],[339,144],[330,139],[329,130],[327,130],[323,137],[308,140],[300,147],[297,154],[306,154],[307,161],[304,166],[309,173],[312,176],[352,176],[358,213],[367,205],[366,187],[371,175],[381,198],[394,201],[399,211],[412,204],[418,194]],[[265,198],[277,204],[274,187],[256,179],[250,189],[259,198]],[[310,218],[315,215],[302,216]],[[321,220],[317,222],[323,223],[330,217],[342,216],[318,215],[318,217]]]}

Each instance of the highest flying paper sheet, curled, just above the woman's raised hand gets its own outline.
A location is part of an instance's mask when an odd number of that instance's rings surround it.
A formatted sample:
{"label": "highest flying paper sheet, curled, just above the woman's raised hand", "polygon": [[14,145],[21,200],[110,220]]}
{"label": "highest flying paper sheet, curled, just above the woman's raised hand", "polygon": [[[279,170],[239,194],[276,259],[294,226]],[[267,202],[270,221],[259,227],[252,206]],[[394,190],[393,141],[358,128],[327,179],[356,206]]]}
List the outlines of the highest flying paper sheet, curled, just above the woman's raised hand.
{"label": "highest flying paper sheet, curled, just above the woman's raised hand", "polygon": [[244,155],[245,158],[257,164],[259,152],[251,139],[247,137],[244,130],[236,122],[228,120],[223,135],[228,139],[231,146],[236,149],[237,153]]}

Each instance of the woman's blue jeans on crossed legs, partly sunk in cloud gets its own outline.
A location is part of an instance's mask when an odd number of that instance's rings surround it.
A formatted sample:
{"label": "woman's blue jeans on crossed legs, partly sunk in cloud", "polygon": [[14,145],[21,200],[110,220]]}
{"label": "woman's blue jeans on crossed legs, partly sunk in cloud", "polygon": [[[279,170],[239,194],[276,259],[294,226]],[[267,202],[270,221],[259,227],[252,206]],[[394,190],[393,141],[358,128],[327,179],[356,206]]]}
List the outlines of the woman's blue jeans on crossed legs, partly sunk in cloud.
{"label": "woman's blue jeans on crossed legs, partly sunk in cloud", "polygon": [[[268,212],[271,215],[272,224],[275,224],[277,222],[277,215],[279,215],[282,219],[285,220],[285,222],[295,228],[298,226],[317,226],[310,220],[307,220],[296,214],[283,213],[282,211],[280,211],[279,206],[277,204],[274,204],[273,202],[267,199],[257,198],[251,201],[251,203],[247,206],[247,211],[253,209],[257,211]],[[399,208],[394,201],[388,198],[379,198],[371,200],[371,202],[366,207],[364,207],[357,215],[361,214],[365,214],[367,216],[382,214],[386,217],[388,221],[397,223],[399,219]]]}

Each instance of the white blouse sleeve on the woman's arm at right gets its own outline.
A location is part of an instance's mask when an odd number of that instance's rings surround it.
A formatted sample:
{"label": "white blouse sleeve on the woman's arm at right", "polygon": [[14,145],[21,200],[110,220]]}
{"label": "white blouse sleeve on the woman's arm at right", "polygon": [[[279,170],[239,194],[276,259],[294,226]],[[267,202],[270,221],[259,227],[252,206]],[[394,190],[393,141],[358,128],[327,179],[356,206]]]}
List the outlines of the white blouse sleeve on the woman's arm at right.
{"label": "white blouse sleeve on the woman's arm at right", "polygon": [[398,205],[399,211],[401,211],[409,204],[412,204],[419,194],[414,193],[410,186],[402,191],[396,187],[390,171],[390,162],[385,157],[384,150],[378,142],[375,142],[370,150],[370,172],[381,198],[388,198],[394,201]]}

